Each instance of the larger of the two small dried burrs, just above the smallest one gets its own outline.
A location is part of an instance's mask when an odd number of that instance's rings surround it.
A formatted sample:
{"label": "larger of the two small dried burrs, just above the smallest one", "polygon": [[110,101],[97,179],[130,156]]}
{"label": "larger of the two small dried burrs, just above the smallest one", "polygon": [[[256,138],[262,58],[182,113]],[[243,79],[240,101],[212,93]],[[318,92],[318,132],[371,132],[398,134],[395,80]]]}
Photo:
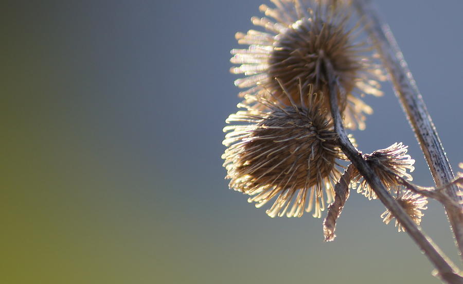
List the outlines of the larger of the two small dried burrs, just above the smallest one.
{"label": "larger of the two small dried burrs, just above the smallest one", "polygon": [[[413,164],[415,160],[410,155],[407,155],[408,146],[402,143],[394,143],[390,147],[382,150],[377,150],[371,154],[365,154],[364,158],[367,163],[373,168],[381,182],[387,190],[397,192],[399,183],[396,176],[403,177],[412,181],[412,175],[407,173],[415,170]],[[361,193],[368,199],[377,199],[375,191],[371,189],[368,183],[363,179],[363,176],[357,172],[357,177],[354,178],[352,186],[357,187],[357,192]],[[359,185],[357,185],[359,183]]]}

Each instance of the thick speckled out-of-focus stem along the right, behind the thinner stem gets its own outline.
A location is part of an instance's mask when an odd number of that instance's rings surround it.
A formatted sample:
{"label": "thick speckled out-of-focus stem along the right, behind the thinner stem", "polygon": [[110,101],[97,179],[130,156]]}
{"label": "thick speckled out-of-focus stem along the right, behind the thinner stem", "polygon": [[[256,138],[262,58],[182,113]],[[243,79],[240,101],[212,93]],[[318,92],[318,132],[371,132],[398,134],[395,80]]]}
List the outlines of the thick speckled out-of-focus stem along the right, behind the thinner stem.
{"label": "thick speckled out-of-focus stem along the right, behind the thinner stem", "polygon": [[[393,33],[381,19],[370,0],[352,0],[352,4],[359,15],[367,21],[366,29],[378,48],[384,66],[394,84],[395,93],[428,162],[436,186],[442,187],[450,184],[454,180],[454,175],[446,152]],[[458,191],[458,187],[454,184],[446,189],[447,195],[452,200],[461,203]],[[459,210],[454,206],[443,205],[455,235],[460,257],[463,259],[463,220],[459,212],[463,205],[460,205]]]}

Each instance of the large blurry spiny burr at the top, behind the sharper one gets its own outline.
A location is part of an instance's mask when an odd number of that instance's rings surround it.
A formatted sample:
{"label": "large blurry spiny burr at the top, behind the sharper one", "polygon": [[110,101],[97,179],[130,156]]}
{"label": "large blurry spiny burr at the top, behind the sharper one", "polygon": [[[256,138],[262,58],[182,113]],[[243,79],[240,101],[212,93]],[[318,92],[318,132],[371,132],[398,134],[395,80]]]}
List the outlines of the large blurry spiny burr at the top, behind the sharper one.
{"label": "large blurry spiny burr at the top, behind the sharper one", "polygon": [[[251,19],[254,25],[263,27],[266,32],[249,30],[246,34],[236,34],[239,44],[249,45],[247,49],[231,50],[234,57],[230,61],[241,64],[231,68],[231,73],[246,75],[235,84],[249,88],[240,96],[264,96],[269,90],[289,104],[282,88],[274,80],[279,78],[297,102],[297,82],[301,80],[305,85],[313,84],[315,92],[321,91],[326,95],[324,107],[329,110],[328,69],[325,67],[325,62],[329,61],[341,90],[338,96],[345,127],[364,129],[364,114],[371,114],[372,110],[355,94],[382,95],[376,80],[383,80],[384,76],[369,56],[371,47],[356,41],[358,35],[355,34],[361,33],[360,24],[348,28],[348,7],[341,1],[334,1],[334,5],[332,0],[272,2],[276,8],[260,6],[268,17]],[[245,102],[251,103],[249,100]]]}

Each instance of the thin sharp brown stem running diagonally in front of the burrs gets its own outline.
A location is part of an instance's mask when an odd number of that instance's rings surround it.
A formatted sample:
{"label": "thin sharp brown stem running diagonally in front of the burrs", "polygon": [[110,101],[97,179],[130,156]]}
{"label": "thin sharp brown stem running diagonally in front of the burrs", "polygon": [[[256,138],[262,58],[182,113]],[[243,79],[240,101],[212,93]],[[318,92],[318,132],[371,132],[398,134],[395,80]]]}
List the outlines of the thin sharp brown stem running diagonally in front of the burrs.
{"label": "thin sharp brown stem running diagonally in front of the burrs", "polygon": [[325,67],[328,78],[331,115],[334,121],[334,130],[339,135],[339,144],[341,150],[350,159],[352,164],[362,174],[363,178],[367,181],[370,187],[375,191],[381,202],[389,209],[390,212],[396,217],[400,224],[405,228],[407,234],[418,244],[420,249],[424,252],[426,257],[434,264],[437,270],[437,276],[446,283],[455,284],[463,283],[463,277],[458,275],[458,269],[455,265],[440,251],[431,238],[425,236],[421,229],[412,221],[406,214],[404,209],[399,203],[390,195],[386,190],[378,176],[373,172],[373,169],[367,164],[362,157],[362,154],[355,149],[350,142],[346,131],[344,130],[341,113],[337,103],[337,94],[339,88],[337,87],[337,77],[334,76],[334,70],[331,63],[325,60]]}

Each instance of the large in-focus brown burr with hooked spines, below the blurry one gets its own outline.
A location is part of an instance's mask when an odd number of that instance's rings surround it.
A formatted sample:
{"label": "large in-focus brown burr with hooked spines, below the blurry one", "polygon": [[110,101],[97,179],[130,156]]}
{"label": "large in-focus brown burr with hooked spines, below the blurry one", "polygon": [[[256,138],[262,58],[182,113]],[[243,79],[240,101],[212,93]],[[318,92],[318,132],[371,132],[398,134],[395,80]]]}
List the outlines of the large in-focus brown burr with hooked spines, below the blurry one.
{"label": "large in-focus brown burr with hooked spines, below the blurry one", "polygon": [[224,128],[231,131],[223,141],[228,149],[222,155],[229,187],[250,195],[248,202],[256,202],[256,207],[276,198],[266,210],[270,217],[285,213],[287,217],[301,217],[304,208],[309,212],[313,204],[313,216],[321,217],[323,188],[330,203],[333,182],[340,176],[336,159],[344,155],[322,107],[323,97],[311,91],[308,95],[303,90],[299,93],[299,105],[291,97],[289,105],[253,97],[255,105],[262,104],[265,111],[247,106],[226,122],[250,124]]}

